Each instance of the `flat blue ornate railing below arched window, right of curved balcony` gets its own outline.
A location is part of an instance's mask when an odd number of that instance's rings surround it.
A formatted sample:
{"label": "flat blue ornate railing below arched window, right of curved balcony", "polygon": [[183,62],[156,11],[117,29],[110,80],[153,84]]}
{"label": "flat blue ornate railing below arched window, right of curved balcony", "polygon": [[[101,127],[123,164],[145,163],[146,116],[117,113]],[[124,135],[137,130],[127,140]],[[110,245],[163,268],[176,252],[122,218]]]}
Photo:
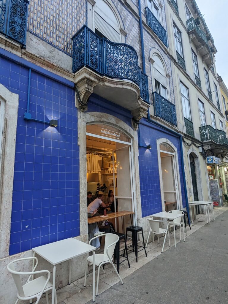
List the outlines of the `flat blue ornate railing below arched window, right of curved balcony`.
{"label": "flat blue ornate railing below arched window, right of curved balcony", "polygon": [[154,115],[159,116],[176,126],[177,117],[175,105],[157,92],[153,92],[152,95],[154,101]]}

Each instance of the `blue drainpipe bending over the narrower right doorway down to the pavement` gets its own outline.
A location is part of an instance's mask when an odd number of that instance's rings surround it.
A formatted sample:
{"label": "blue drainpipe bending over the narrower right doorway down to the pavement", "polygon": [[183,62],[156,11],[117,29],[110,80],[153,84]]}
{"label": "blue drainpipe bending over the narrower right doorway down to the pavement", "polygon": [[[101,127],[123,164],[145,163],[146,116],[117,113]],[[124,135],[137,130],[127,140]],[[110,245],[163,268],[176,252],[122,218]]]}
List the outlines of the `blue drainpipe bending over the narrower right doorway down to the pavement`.
{"label": "blue drainpipe bending over the narrower right doorway down to the pavement", "polygon": [[179,140],[180,140],[180,149],[181,149],[181,170],[182,170],[182,176],[183,176],[183,181],[184,181],[184,190],[185,190],[185,201],[186,201],[186,209],[188,211],[188,223],[191,224],[190,222],[190,213],[189,213],[189,206],[188,206],[188,193],[187,193],[187,185],[186,185],[186,179],[185,179],[185,167],[184,167],[184,156],[183,156],[183,147],[182,147],[182,135],[173,131],[173,130],[170,130],[169,128],[167,128],[166,126],[163,126],[161,125],[160,123],[157,123],[157,121],[154,121],[150,118],[150,112],[149,112],[149,109],[148,109],[148,112],[147,112],[147,120],[150,122],[150,123],[153,123],[157,126],[159,126],[160,128],[163,128],[164,130],[167,130],[169,133],[172,133],[174,136],[178,137]]}

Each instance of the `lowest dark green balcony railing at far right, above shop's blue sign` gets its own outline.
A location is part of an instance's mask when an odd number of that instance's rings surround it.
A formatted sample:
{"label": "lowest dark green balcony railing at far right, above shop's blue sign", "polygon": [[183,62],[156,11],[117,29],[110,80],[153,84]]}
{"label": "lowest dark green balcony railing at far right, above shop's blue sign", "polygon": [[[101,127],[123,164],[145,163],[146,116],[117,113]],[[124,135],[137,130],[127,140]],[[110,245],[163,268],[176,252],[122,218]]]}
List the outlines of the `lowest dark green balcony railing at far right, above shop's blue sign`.
{"label": "lowest dark green balcony railing at far right, above shop's blue sign", "polygon": [[228,145],[226,133],[222,130],[214,129],[210,125],[199,127],[200,138],[202,141],[214,141],[221,145]]}

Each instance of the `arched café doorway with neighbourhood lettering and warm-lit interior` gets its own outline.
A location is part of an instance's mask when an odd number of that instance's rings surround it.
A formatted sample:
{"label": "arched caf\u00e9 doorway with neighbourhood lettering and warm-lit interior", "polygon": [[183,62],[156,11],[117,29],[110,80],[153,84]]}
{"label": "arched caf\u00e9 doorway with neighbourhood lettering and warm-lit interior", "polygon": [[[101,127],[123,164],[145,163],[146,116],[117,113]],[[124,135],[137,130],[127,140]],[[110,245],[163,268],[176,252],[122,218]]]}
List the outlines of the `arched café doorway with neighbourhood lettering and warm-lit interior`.
{"label": "arched caf\u00e9 doorway with neighbourhood lettering and warm-lit interior", "polygon": [[[113,212],[133,211],[135,208],[134,167],[132,159],[132,139],[123,130],[104,123],[86,125],[87,191],[95,198],[97,186],[104,186],[104,202],[109,191],[114,195]],[[121,221],[121,219],[119,219]],[[119,231],[121,224],[118,223]],[[131,225],[126,217],[126,225]]]}

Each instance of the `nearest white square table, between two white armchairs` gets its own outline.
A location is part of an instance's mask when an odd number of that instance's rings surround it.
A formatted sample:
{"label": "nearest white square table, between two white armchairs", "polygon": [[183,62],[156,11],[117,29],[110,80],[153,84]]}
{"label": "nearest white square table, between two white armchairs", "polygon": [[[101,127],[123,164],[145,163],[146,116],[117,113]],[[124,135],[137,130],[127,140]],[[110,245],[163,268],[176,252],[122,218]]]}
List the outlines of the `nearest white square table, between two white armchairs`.
{"label": "nearest white square table, between two white armchairs", "polygon": [[[95,252],[96,247],[83,243],[74,238],[60,240],[54,243],[46,244],[43,246],[35,247],[33,256],[39,254],[46,261],[53,265],[53,282],[52,282],[52,301],[54,304],[55,299],[55,273],[56,265],[64,261],[69,261],[69,284],[71,284],[71,260],[79,255],[93,252],[93,302],[95,301]],[[34,262],[33,262],[34,263]],[[33,265],[34,267],[34,265]]]}

